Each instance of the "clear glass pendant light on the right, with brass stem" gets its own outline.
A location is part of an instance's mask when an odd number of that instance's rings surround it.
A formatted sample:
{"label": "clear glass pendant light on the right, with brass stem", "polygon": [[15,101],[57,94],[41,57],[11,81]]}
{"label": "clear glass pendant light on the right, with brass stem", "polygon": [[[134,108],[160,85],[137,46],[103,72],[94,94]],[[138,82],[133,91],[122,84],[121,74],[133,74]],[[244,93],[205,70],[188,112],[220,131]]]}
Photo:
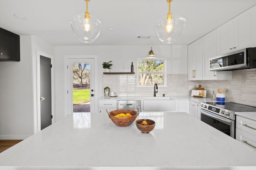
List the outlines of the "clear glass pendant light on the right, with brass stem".
{"label": "clear glass pendant light on the right, with brass stem", "polygon": [[185,18],[181,16],[174,16],[171,13],[171,2],[172,0],[167,0],[169,3],[169,13],[167,16],[160,18],[155,25],[155,31],[158,39],[164,44],[172,44],[180,37],[184,27],[186,25]]}

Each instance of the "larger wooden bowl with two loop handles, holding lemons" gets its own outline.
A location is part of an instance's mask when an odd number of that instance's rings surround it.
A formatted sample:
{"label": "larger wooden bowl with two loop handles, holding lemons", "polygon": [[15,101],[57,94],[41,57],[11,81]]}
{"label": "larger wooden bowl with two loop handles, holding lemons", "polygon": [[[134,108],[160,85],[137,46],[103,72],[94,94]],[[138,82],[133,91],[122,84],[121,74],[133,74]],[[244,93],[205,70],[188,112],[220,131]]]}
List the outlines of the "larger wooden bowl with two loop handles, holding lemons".
{"label": "larger wooden bowl with two loop handles, holding lemons", "polygon": [[[139,115],[140,107],[137,107],[136,110],[120,109],[120,110],[113,110],[110,112],[107,111],[107,113],[109,118],[112,120],[112,122],[115,123],[117,126],[127,127],[127,126],[130,126]],[[130,113],[132,116],[131,117],[114,117],[115,115],[120,113]]]}

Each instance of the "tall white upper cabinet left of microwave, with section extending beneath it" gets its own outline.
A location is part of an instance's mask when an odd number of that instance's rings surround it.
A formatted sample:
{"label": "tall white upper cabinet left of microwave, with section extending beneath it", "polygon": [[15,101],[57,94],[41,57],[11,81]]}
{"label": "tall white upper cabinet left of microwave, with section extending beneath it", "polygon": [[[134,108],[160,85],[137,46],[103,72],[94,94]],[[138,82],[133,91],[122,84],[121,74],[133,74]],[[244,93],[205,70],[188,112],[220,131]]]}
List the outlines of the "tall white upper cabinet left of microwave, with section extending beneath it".
{"label": "tall white upper cabinet left of microwave, with section extending beneath it", "polygon": [[203,37],[203,80],[231,80],[232,71],[210,71],[209,59],[217,56],[217,30]]}

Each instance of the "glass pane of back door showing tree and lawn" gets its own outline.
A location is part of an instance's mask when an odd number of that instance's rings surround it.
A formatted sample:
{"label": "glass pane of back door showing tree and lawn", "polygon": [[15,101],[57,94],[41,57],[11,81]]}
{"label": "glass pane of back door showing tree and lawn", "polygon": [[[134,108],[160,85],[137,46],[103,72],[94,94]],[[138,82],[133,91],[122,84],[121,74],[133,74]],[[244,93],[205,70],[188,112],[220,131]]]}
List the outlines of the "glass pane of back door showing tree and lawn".
{"label": "glass pane of back door showing tree and lawn", "polygon": [[73,63],[73,112],[90,112],[90,63]]}

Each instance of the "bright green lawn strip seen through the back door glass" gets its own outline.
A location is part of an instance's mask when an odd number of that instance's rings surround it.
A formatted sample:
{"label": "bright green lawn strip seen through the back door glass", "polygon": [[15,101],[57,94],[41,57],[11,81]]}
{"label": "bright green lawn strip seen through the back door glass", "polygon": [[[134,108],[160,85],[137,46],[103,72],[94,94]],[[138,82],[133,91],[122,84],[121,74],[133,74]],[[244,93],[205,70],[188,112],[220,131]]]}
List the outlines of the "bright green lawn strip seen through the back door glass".
{"label": "bright green lawn strip seen through the back door glass", "polygon": [[81,104],[90,101],[90,89],[73,90],[73,104]]}

